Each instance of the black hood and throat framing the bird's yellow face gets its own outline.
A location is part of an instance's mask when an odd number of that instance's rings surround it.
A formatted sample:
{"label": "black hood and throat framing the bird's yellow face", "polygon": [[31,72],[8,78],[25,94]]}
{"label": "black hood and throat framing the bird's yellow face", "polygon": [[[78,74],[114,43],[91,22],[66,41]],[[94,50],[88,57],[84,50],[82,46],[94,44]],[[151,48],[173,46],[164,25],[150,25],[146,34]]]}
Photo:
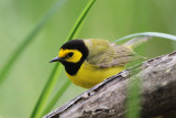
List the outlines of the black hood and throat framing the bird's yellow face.
{"label": "black hood and throat framing the bird's yellow face", "polygon": [[84,61],[87,58],[88,56],[88,49],[85,45],[82,40],[72,40],[67,43],[65,43],[61,49],[67,49],[67,50],[78,50],[81,52],[82,56],[80,58],[79,62],[77,63],[72,63],[72,62],[66,62],[66,61],[61,61],[61,63],[65,66],[66,72],[74,76],[77,74],[77,72],[79,71],[81,64],[84,63]]}

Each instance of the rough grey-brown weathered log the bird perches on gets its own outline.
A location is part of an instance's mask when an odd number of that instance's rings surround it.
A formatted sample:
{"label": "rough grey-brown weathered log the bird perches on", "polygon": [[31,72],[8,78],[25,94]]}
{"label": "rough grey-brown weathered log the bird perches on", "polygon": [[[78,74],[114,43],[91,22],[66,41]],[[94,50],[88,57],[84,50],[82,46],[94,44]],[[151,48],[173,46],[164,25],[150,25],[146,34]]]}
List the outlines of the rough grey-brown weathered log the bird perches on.
{"label": "rough grey-brown weathered log the bird perches on", "polygon": [[139,79],[141,117],[176,118],[176,52],[107,78],[44,118],[124,118],[129,87]]}

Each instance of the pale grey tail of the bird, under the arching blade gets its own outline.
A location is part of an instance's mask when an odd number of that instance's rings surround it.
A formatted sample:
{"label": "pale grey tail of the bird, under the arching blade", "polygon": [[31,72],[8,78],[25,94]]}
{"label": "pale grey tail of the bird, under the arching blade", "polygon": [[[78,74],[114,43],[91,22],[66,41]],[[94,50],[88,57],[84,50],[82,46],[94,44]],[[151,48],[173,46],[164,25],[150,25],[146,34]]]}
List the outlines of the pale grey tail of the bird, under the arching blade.
{"label": "pale grey tail of the bird, under the arching blade", "polygon": [[135,49],[136,46],[139,46],[140,44],[148,41],[152,36],[138,36],[138,37],[134,37],[128,42],[125,42],[123,45],[124,46],[128,46],[130,49]]}

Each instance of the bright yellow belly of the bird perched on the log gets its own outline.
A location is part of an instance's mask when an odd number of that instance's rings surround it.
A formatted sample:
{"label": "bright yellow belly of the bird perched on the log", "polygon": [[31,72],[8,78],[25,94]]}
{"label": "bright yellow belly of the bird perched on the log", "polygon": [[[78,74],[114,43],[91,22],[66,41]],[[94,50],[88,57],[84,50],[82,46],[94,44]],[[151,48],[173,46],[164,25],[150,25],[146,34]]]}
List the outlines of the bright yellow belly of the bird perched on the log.
{"label": "bright yellow belly of the bird perched on the log", "polygon": [[70,76],[69,74],[67,74],[67,76],[76,85],[85,88],[90,88],[101,83],[103,79],[113,76],[123,69],[123,65],[109,68],[100,68],[92,66],[85,61],[76,75]]}

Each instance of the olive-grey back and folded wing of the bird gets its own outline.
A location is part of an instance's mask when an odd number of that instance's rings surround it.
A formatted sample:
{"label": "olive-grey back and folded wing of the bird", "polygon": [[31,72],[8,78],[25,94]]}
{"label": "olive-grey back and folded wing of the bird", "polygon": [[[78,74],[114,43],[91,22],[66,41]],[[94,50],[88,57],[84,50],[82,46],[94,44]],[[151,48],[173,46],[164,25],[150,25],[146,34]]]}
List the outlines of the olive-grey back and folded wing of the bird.
{"label": "olive-grey back and folded wing of the bird", "polygon": [[88,47],[90,50],[87,62],[98,67],[124,65],[142,57],[124,45],[116,45],[105,40],[98,41],[96,44],[91,42]]}

